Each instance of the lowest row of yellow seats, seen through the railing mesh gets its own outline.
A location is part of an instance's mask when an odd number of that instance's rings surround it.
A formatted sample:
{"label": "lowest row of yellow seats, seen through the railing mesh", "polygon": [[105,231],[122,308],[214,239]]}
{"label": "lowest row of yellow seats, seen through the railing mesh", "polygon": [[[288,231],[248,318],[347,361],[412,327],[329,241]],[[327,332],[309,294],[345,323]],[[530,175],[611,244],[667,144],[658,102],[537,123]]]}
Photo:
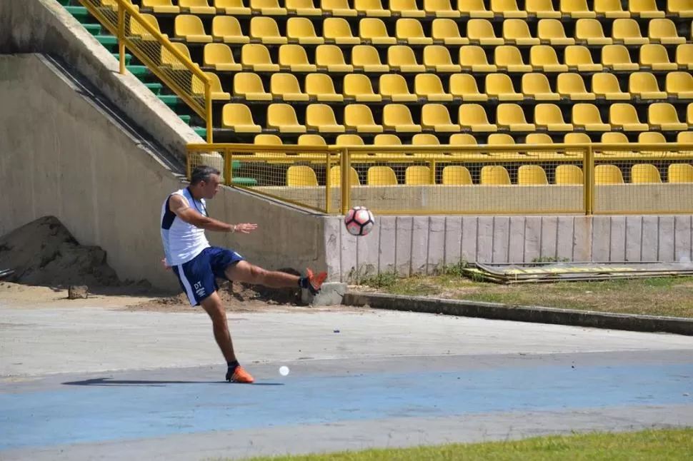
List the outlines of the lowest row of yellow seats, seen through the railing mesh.
{"label": "lowest row of yellow seats, seen through the railing mesh", "polygon": [[[510,186],[510,175],[504,166],[483,166],[480,172],[479,184],[482,186]],[[656,166],[641,163],[631,167],[632,184],[662,183],[662,177]],[[668,183],[693,183],[693,166],[689,163],[672,163],[667,168]],[[341,183],[341,168],[333,166],[330,170],[330,183],[338,186]],[[361,180],[354,167],[349,171],[349,183],[360,186]],[[559,165],[554,172],[554,184],[581,185],[584,183],[582,169],[574,165]],[[594,167],[594,183],[599,185],[623,184],[623,174],[616,165],[597,165]],[[367,170],[366,184],[368,186],[397,186],[397,174],[389,166],[372,166]],[[404,171],[404,184],[409,186],[425,186],[434,184],[431,170],[428,166],[409,166]],[[450,165],[443,168],[441,184],[445,186],[472,186],[472,175],[465,166]],[[517,170],[517,185],[544,186],[548,185],[547,173],[539,165],[522,165]],[[286,170],[286,186],[306,187],[318,186],[315,171],[309,166],[290,166]]]}

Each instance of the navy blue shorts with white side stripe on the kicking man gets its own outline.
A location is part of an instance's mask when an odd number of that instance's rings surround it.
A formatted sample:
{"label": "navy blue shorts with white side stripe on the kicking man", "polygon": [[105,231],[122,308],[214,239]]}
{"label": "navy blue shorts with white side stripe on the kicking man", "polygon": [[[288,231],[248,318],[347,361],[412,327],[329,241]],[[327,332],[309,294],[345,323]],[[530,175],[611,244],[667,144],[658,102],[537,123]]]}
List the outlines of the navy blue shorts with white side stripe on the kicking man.
{"label": "navy blue shorts with white side stripe on the kicking man", "polygon": [[219,290],[216,279],[226,278],[224,270],[242,260],[243,256],[234,250],[211,246],[187,263],[174,265],[173,271],[190,304],[199,305],[204,298]]}

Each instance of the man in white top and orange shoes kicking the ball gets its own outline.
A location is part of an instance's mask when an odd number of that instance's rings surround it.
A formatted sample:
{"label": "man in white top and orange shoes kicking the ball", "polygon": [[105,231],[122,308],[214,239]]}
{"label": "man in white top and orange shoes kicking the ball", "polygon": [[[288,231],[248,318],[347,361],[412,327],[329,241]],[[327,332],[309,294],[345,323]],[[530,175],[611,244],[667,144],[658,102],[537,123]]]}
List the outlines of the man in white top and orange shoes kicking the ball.
{"label": "man in white top and orange shoes kicking the ball", "polygon": [[219,170],[198,166],[192,172],[188,187],[171,193],[161,207],[161,240],[164,265],[172,268],[191,305],[201,305],[209,314],[214,339],[229,365],[226,380],[252,383],[253,377],[239,365],[231,342],[226,311],[219,298],[216,278],[264,285],[270,288],[300,287],[318,293],[327,273],[306,277],[265,270],[248,263],[234,250],[209,245],[204,231],[251,233],[256,224],[227,224],[207,216],[206,198],[219,192]]}

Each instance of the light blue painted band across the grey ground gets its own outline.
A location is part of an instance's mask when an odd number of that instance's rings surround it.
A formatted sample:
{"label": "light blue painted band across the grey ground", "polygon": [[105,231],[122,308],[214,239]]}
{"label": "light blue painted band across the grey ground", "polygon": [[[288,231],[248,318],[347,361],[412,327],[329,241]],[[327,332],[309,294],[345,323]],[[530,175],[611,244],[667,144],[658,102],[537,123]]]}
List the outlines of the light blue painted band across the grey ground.
{"label": "light blue painted band across the grey ground", "polygon": [[268,385],[138,376],[0,393],[0,450],[387,417],[690,405],[693,363],[292,373],[259,380]]}

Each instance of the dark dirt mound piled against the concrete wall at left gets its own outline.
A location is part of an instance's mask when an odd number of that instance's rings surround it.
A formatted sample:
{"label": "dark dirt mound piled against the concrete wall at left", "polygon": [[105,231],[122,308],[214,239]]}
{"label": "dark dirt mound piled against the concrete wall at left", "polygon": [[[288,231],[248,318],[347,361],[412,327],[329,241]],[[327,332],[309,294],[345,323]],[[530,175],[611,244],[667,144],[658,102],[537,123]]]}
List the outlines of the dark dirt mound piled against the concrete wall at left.
{"label": "dark dirt mound piled against the concrete wall at left", "polygon": [[120,283],[98,246],[80,245],[54,216],[31,221],[0,237],[0,270],[14,270],[4,280],[25,285],[114,286]]}

